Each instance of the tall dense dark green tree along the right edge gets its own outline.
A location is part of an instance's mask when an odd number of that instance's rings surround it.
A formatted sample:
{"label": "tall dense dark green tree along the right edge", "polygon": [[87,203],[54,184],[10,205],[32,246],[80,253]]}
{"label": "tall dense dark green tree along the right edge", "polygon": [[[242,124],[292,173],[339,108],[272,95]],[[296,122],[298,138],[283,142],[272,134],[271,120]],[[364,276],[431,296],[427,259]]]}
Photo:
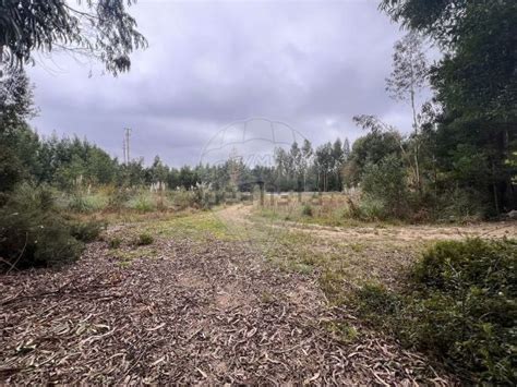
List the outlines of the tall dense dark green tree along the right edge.
{"label": "tall dense dark green tree along the right edge", "polygon": [[[493,208],[517,206],[508,159],[517,149],[517,2],[515,0],[383,0],[381,9],[407,29],[430,37],[444,52],[431,84],[443,105],[438,134],[446,176],[461,178],[458,166],[482,157],[484,179],[460,179],[493,197]],[[458,153],[468,145],[469,153]],[[461,155],[460,158],[454,156]],[[483,194],[483,195],[484,195]]]}

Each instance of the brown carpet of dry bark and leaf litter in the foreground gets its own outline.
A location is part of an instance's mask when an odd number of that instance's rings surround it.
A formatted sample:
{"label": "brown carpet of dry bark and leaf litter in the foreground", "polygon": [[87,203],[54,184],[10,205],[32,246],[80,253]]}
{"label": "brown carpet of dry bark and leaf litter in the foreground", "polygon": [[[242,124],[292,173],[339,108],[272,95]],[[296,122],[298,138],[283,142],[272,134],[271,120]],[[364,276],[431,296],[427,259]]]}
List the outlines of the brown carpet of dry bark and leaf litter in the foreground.
{"label": "brown carpet of dry bark and leaf litter in the foreground", "polygon": [[[223,216],[232,220],[233,210]],[[164,238],[153,249],[154,256],[121,265],[97,242],[62,271],[0,277],[0,382],[449,380],[368,330],[344,341],[310,277],[276,270],[245,244]]]}

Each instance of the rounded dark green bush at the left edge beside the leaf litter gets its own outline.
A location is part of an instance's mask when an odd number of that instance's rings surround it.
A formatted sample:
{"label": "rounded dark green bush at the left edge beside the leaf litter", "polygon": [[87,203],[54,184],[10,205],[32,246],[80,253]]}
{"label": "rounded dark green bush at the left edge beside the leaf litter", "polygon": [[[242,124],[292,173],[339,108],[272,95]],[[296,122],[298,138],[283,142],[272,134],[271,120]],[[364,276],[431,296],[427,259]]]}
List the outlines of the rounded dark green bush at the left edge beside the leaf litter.
{"label": "rounded dark green bush at the left edge beside the leaf litter", "polygon": [[53,209],[51,194],[45,188],[22,185],[0,207],[2,270],[12,266],[60,266],[77,259],[83,247]]}

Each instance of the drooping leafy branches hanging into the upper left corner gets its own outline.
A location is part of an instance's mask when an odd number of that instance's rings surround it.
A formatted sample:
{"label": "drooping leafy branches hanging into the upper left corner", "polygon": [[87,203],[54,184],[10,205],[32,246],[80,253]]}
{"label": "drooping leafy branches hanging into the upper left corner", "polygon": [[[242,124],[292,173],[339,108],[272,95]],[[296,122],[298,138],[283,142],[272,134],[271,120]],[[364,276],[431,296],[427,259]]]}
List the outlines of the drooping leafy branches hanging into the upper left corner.
{"label": "drooping leafy branches hanging into the upper left corner", "polygon": [[146,47],[128,13],[135,0],[2,0],[0,58],[11,68],[33,61],[35,51],[65,50],[100,60],[115,75],[131,66],[130,53]]}

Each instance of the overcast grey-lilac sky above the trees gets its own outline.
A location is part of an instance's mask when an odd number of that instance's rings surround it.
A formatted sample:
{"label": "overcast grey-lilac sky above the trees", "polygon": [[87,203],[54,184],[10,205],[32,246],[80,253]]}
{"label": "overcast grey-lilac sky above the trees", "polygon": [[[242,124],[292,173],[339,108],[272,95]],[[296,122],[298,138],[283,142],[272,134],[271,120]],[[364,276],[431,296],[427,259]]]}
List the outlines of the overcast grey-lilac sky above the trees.
{"label": "overcast grey-lilac sky above the trees", "polygon": [[[398,25],[377,1],[139,0],[131,13],[149,41],[117,78],[59,55],[29,69],[41,134],[86,136],[122,159],[172,166],[200,161],[207,142],[236,120],[285,122],[314,145],[361,135],[354,114],[401,131],[408,106],[385,93]],[[93,76],[88,76],[89,73]]]}

